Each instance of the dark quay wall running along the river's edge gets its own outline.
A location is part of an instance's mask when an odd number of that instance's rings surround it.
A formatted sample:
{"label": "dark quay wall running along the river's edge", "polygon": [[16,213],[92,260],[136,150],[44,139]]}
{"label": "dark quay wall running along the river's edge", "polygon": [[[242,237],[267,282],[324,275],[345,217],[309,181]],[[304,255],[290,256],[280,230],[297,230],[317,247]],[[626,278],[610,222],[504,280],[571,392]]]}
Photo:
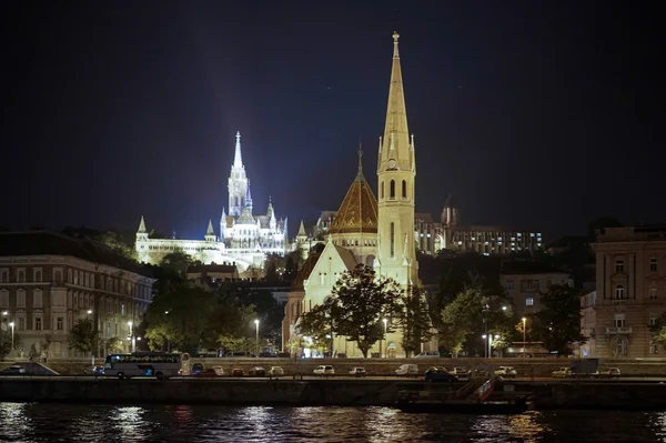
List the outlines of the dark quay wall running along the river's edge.
{"label": "dark quay wall running along the river's edge", "polygon": [[[505,386],[513,386],[507,390]],[[0,402],[392,406],[400,390],[460,386],[383,380],[114,380],[0,379]],[[509,392],[507,392],[509,391]],[[666,384],[506,382],[496,397],[531,394],[536,409],[666,410]]]}

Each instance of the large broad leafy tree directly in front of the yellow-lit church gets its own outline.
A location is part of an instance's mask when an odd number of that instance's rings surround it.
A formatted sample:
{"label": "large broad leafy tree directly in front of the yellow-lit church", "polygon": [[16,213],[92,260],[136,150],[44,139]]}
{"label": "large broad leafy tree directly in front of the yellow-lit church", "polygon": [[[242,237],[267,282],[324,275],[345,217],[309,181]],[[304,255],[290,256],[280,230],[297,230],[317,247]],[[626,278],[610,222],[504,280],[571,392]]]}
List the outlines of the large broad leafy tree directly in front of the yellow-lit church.
{"label": "large broad leafy tree directly in front of the yellow-lit church", "polygon": [[376,279],[372,268],[364,264],[344,272],[331,295],[333,330],[355,341],[366,358],[367,351],[384,336],[382,319],[395,316],[401,292],[392,279]]}

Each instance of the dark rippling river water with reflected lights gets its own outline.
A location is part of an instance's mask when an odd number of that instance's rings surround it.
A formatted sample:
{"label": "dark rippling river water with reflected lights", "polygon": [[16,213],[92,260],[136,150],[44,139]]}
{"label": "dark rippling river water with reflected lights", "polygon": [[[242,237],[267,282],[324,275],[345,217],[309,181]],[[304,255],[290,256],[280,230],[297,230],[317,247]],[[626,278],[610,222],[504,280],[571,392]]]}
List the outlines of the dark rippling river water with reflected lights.
{"label": "dark rippling river water with reflected lights", "polygon": [[666,412],[0,403],[0,442],[663,442]]}

